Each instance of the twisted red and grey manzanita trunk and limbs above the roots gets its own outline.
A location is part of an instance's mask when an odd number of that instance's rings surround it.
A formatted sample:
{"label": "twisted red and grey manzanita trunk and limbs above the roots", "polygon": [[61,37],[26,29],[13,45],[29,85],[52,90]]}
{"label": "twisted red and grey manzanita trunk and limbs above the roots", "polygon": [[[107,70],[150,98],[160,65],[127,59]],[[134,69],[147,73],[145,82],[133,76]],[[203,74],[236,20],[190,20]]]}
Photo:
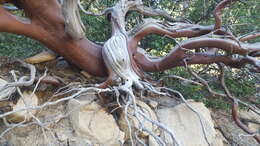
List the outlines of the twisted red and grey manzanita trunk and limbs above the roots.
{"label": "twisted red and grey manzanita trunk and limbs above the roots", "polygon": [[[185,19],[174,19],[166,11],[145,6],[142,0],[119,0],[113,7],[98,14],[86,11],[78,0],[0,0],[1,4],[12,3],[23,10],[26,16],[15,16],[8,11],[9,7],[0,6],[0,32],[38,40],[87,73],[107,77],[98,87],[118,85],[119,89],[132,95],[132,86],[137,89],[152,88],[144,72],[213,63],[220,68],[224,65],[242,68],[251,64],[252,70],[259,72],[260,43],[247,41],[259,37],[260,33],[234,36],[230,30],[222,27],[221,11],[236,1],[221,1],[213,12],[215,23],[203,26]],[[85,37],[79,10],[86,15],[107,16],[112,35],[103,45],[95,44]],[[126,30],[126,14],[133,11],[146,17],[142,23]],[[178,43],[165,57],[153,59],[145,53],[146,48],[139,46],[139,42],[149,34],[189,39]],[[201,82],[207,85],[203,80]],[[233,115],[237,124],[252,133],[237,119],[237,100],[224,89],[226,96],[234,101]],[[258,135],[254,137],[260,142]]]}

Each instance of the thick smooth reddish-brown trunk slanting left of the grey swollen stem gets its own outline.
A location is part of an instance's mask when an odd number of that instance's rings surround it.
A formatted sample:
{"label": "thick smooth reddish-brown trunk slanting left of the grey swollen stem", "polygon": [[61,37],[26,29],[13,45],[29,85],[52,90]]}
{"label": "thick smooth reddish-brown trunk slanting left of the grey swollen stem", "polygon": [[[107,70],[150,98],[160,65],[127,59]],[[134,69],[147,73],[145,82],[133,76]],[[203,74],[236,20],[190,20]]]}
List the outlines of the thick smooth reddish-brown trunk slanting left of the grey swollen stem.
{"label": "thick smooth reddish-brown trunk slanting left of the grey swollen stem", "polygon": [[101,46],[88,39],[73,40],[65,32],[64,18],[57,0],[24,0],[22,6],[30,22],[22,22],[0,7],[0,31],[38,40],[94,76],[107,76]]}

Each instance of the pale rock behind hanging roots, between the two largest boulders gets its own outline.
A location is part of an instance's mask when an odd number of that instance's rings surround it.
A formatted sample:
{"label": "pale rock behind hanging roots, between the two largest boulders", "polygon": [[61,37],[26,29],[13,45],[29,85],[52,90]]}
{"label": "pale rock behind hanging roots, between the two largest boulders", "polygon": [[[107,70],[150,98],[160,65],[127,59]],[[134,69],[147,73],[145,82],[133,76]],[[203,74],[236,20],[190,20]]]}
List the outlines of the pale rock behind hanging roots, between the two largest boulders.
{"label": "pale rock behind hanging roots, between the two largest boulders", "polygon": [[[152,120],[154,121],[158,121],[156,114],[154,113],[154,111],[144,102],[137,100],[136,104],[143,109],[143,112]],[[129,108],[129,113],[133,113],[133,109]],[[131,123],[132,126],[132,130],[138,130],[139,128],[139,122],[138,120],[131,116],[132,114],[128,115],[128,120]],[[153,131],[155,133],[159,133],[157,126],[153,125],[151,122],[144,120],[143,117],[140,117],[141,121],[143,121],[144,123],[144,127],[147,128],[149,131]],[[120,129],[123,130],[126,134],[125,139],[129,139],[129,129],[128,129],[128,125],[127,125],[127,121],[125,119],[125,114],[122,113],[119,119],[119,126]],[[140,132],[140,131],[138,131]],[[148,133],[147,132],[141,132],[139,135],[141,138],[147,137]]]}

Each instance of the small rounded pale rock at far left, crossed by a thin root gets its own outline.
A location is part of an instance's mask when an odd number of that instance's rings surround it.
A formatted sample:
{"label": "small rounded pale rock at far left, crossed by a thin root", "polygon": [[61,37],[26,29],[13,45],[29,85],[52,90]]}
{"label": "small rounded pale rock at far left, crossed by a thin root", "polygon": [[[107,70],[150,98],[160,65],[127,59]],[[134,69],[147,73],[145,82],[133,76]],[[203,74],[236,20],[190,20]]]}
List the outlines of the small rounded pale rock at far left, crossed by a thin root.
{"label": "small rounded pale rock at far left, crossed by a thin root", "polygon": [[[31,91],[23,92],[23,96],[20,97],[18,102],[12,107],[13,111],[23,109],[26,107],[37,106],[39,104],[39,99],[36,94],[32,94]],[[7,116],[7,120],[10,122],[18,123],[22,121],[30,121],[32,115],[35,115],[37,110],[24,110],[20,112],[13,113]]]}

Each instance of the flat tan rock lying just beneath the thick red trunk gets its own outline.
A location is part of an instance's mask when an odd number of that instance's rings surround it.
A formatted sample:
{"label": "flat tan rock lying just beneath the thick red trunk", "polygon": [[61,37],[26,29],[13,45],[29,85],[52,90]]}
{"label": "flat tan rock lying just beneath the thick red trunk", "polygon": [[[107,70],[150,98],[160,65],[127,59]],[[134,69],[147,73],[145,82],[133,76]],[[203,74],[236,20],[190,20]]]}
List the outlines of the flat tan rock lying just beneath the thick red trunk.
{"label": "flat tan rock lying just beneath the thick red trunk", "polygon": [[25,59],[25,62],[30,64],[38,64],[56,59],[57,55],[50,51],[43,51],[35,56]]}

